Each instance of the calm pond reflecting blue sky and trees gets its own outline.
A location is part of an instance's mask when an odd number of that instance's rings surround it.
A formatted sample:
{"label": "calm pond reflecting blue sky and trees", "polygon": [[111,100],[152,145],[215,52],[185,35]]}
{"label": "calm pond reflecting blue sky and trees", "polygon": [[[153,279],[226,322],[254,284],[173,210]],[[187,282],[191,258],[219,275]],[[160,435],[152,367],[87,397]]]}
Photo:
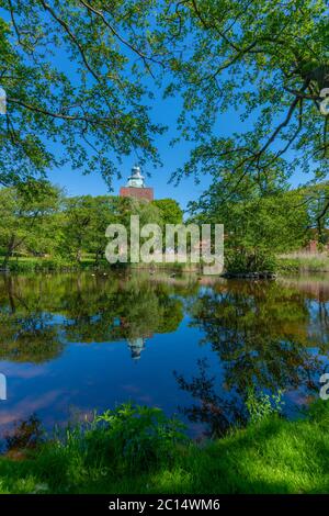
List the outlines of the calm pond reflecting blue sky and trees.
{"label": "calm pond reflecting blue sky and trees", "polygon": [[294,417],[319,396],[328,310],[327,277],[1,276],[0,435],[128,400],[179,413],[193,437],[220,434],[246,420],[252,385],[283,390]]}

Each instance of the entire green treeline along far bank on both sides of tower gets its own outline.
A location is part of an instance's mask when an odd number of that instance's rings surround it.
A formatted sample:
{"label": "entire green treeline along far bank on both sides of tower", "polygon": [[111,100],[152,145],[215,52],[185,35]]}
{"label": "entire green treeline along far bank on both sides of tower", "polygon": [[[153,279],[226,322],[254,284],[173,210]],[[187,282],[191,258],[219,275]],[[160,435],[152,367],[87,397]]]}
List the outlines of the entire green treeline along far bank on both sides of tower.
{"label": "entire green treeline along far bank on both sides of tower", "polygon": [[[250,181],[234,199],[225,189],[206,192],[190,204],[188,222],[224,224],[225,266],[231,271],[276,268],[275,256],[302,249],[311,239],[325,249],[328,216],[322,216],[329,198],[328,184],[261,191]],[[109,224],[129,227],[131,215],[140,226],[180,224],[183,212],[177,201],[144,201],[117,195],[66,197],[48,181],[30,180],[0,190],[0,254],[2,267],[12,258],[46,258],[52,263],[99,265],[104,259]],[[35,260],[34,260],[35,261]],[[36,260],[45,265],[46,260]]]}

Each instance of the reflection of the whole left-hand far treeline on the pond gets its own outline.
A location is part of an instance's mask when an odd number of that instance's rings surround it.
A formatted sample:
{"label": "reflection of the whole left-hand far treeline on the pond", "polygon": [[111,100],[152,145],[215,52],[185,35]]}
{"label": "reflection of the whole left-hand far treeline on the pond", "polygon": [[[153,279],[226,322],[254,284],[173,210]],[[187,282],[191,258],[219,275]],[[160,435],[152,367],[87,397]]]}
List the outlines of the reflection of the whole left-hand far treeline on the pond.
{"label": "reflection of the whole left-hand far treeline on the pond", "polygon": [[175,287],[149,277],[2,277],[0,358],[35,363],[67,341],[135,341],[174,332],[183,304]]}

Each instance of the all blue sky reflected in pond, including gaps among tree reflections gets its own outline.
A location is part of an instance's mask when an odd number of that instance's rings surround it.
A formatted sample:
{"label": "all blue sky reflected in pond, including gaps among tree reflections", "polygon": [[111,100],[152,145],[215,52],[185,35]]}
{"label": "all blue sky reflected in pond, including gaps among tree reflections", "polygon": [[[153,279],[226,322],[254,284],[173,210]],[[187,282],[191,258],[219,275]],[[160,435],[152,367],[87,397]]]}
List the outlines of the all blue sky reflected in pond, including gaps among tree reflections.
{"label": "all blue sky reflected in pond, including gaps among tree reflections", "polygon": [[[239,292],[239,289],[237,291]],[[82,314],[80,319],[77,314],[75,314],[76,316],[71,314],[65,316],[56,311],[53,313],[48,311],[41,312],[38,318],[34,322],[34,330],[38,332],[47,327],[54,328],[55,340],[63,343],[64,347],[57,355],[55,352],[54,357],[50,356],[48,359],[46,357],[39,363],[33,363],[29,361],[29,358],[18,361],[14,359],[0,361],[0,372],[7,377],[8,381],[8,399],[0,401],[0,433],[3,435],[14,422],[25,419],[33,413],[37,414],[46,428],[52,428],[54,424],[65,424],[68,419],[81,417],[83,414],[91,414],[93,410],[103,411],[127,400],[138,404],[160,406],[171,415],[178,411],[178,406],[189,406],[193,402],[191,394],[179,389],[173,371],[183,374],[190,381],[192,377],[197,374],[197,360],[202,358],[206,358],[208,361],[209,369],[207,373],[216,377],[217,392],[224,399],[229,399],[235,391],[235,379],[231,379],[228,389],[225,374],[231,362],[229,360],[226,362],[223,356],[220,360],[218,351],[212,347],[207,339],[201,344],[205,336],[203,327],[200,325],[196,325],[196,327],[191,326],[191,319],[193,319],[193,316],[195,318],[195,313],[192,310],[188,314],[191,305],[200,302],[200,296],[206,294],[212,294],[212,289],[208,287],[197,288],[196,291],[183,295],[181,292],[171,291],[168,295],[166,294],[167,298],[174,299],[178,302],[181,301],[185,312],[175,330],[159,333],[151,328],[147,336],[117,337],[113,341],[100,341],[99,335],[97,337],[94,335],[94,339],[98,341],[93,341],[93,328],[99,327],[103,317],[97,305],[94,309],[95,314],[88,316]],[[86,295],[88,295],[88,292]],[[159,299],[162,296],[162,302],[166,305],[168,300],[163,292],[160,291],[157,295]],[[302,321],[305,322],[306,316],[305,335],[310,341],[309,356],[319,360],[321,370],[324,366],[321,362],[325,362],[327,357],[319,355],[317,343],[328,341],[326,313],[329,303],[319,303],[314,299],[314,295],[309,298],[305,295],[302,299]],[[135,301],[132,301],[132,309],[137,310],[138,301],[136,306],[134,303]],[[284,303],[283,309],[285,307]],[[217,321],[220,322],[218,328],[215,328],[215,335],[216,332],[222,335],[223,332],[228,329],[232,333],[232,336],[239,336],[239,333],[234,333],[238,318],[231,321],[228,317],[225,323],[220,319],[225,306],[225,303],[223,306],[218,305],[218,313],[213,314],[213,324]],[[257,311],[258,306],[250,305],[250,314],[256,315],[256,323]],[[1,306],[1,313],[9,313],[7,304]],[[241,311],[237,313],[240,317]],[[276,312],[273,313],[275,316]],[[138,314],[138,317],[143,317],[143,310],[141,315]],[[126,315],[126,311],[123,311],[121,316],[110,317],[105,330],[109,328],[113,328],[115,332],[120,330],[128,318],[129,315]],[[78,325],[77,321],[81,319],[90,329],[88,344],[71,341],[75,333],[70,334],[69,328],[75,329],[75,325]],[[207,325],[207,313],[204,315],[204,325],[205,327]],[[226,327],[227,325],[228,327]],[[292,332],[296,333],[297,338],[300,328],[298,325],[292,327]],[[241,329],[243,329],[243,325]],[[83,334],[84,330],[84,326],[81,326],[80,329],[78,328],[78,334],[79,332]],[[277,332],[277,328],[275,330]],[[282,339],[280,345],[283,352],[294,351],[294,334],[292,334],[291,340]],[[239,356],[235,357],[235,344],[238,343],[232,343],[230,360],[239,360]],[[29,347],[29,339],[24,345]],[[47,340],[43,345],[47,346]],[[256,361],[262,359],[260,352],[261,350],[251,349],[248,359]],[[13,357],[11,356],[11,358]],[[297,364],[297,367],[299,366]],[[314,372],[310,374],[317,378],[320,375],[320,370],[319,374],[314,374]],[[306,383],[299,385],[298,389],[288,388],[285,393],[287,414],[295,414],[296,406],[307,403],[308,394]],[[200,428],[201,425],[197,422],[190,424],[192,434],[197,434]]]}

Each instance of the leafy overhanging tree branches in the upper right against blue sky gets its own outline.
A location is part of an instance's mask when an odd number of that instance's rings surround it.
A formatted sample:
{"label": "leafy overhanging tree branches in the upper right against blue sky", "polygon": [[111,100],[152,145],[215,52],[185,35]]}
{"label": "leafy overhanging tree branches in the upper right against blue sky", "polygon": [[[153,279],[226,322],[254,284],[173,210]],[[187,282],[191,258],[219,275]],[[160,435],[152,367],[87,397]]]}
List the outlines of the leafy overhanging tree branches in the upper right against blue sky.
{"label": "leafy overhanging tree branches in the upper right against blue sky", "polygon": [[[175,177],[213,173],[227,193],[280,166],[309,179],[328,172],[329,87],[326,0],[167,1],[163,44],[171,49],[168,94],[183,96],[181,134],[195,143]],[[327,101],[326,101],[327,102]],[[232,109],[240,123],[227,137]]]}

